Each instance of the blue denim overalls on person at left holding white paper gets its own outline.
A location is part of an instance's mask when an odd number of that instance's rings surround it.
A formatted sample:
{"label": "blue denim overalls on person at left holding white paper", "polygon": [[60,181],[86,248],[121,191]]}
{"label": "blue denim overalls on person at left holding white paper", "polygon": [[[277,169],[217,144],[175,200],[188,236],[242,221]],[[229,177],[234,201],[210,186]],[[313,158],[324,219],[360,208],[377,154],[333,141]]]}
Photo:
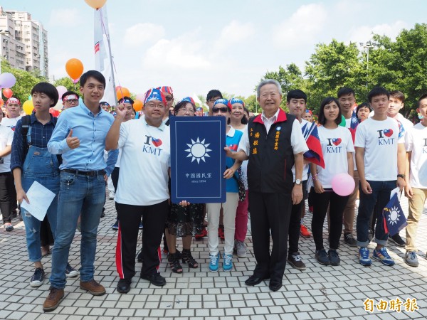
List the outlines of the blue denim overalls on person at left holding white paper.
{"label": "blue denim overalls on person at left holding white paper", "polygon": [[[22,169],[21,183],[23,191],[27,192],[33,182],[37,181],[56,194],[46,213],[48,215],[49,224],[51,225],[53,238],[55,238],[59,193],[58,158],[56,155],[50,154],[47,148],[30,146]],[[24,208],[21,208],[21,215],[25,225],[29,260],[31,262],[39,262],[41,261],[41,221],[34,218],[31,213]]]}

